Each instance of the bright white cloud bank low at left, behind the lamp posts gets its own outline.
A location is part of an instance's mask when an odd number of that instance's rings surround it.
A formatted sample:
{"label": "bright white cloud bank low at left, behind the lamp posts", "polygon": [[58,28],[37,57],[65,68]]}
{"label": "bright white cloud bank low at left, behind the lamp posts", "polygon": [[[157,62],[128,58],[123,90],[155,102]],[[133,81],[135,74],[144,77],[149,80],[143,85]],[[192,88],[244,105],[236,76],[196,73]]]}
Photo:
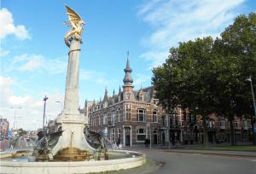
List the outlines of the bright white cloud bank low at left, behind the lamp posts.
{"label": "bright white cloud bank low at left, behind the lamp posts", "polygon": [[[37,130],[42,127],[44,94],[41,98],[36,98],[29,95],[15,95],[12,87],[18,85],[13,78],[3,77],[0,75],[0,115],[3,118],[9,119],[12,126],[14,123],[15,107],[22,107],[16,110],[15,127],[26,130]],[[40,95],[39,95],[40,96]],[[59,91],[48,93],[49,100],[46,105],[46,119],[55,119],[58,113],[61,113],[63,106],[64,95]],[[61,103],[60,103],[61,102]],[[14,107],[14,108],[11,108]]]}

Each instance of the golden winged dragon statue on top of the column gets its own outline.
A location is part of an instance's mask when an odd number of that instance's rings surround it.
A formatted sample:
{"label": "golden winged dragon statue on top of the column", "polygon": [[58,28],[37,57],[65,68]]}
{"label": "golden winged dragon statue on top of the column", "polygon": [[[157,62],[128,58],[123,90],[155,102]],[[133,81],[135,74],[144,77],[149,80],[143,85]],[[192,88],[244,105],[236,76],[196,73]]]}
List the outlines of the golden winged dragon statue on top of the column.
{"label": "golden winged dragon statue on top of the column", "polygon": [[71,36],[80,38],[82,35],[82,32],[84,31],[84,27],[82,25],[84,25],[85,22],[84,20],[82,20],[79,14],[77,14],[73,9],[69,8],[67,5],[65,6],[67,9],[67,15],[68,15],[68,21],[65,23],[67,26],[72,27],[72,29],[69,32],[67,32],[64,38],[65,43],[69,47],[68,38],[70,38]]}

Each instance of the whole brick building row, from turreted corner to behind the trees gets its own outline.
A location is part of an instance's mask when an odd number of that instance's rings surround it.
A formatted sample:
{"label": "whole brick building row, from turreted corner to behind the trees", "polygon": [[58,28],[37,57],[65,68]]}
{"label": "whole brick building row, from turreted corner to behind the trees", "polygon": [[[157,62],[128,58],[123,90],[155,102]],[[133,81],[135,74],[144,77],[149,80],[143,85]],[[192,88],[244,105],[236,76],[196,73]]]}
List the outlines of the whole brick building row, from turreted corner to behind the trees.
{"label": "whole brick building row, from turreted corner to behind the trees", "polygon": [[[108,95],[105,90],[103,100],[85,102],[80,110],[89,120],[90,130],[104,134],[109,142],[123,146],[143,144],[146,139],[152,145],[176,143],[203,143],[203,127],[200,115],[193,115],[189,108],[176,107],[172,114],[160,107],[155,98],[154,86],[134,90],[129,57],[127,58],[124,84],[117,94]],[[251,120],[236,117],[233,123],[236,141],[252,140]],[[207,117],[208,142],[230,142],[230,123],[227,119],[210,114]]]}

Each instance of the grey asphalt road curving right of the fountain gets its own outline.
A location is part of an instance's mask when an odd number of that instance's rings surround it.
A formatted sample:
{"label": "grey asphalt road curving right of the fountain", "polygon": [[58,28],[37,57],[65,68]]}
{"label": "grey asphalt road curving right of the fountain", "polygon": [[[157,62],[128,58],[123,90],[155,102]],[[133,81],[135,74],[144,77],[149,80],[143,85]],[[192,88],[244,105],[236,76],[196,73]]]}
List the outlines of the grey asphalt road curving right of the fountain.
{"label": "grey asphalt road curving right of the fountain", "polygon": [[[205,154],[177,154],[145,151],[148,159],[164,163],[147,173],[157,174],[255,174],[256,158],[237,158]],[[160,163],[161,164],[161,163]]]}

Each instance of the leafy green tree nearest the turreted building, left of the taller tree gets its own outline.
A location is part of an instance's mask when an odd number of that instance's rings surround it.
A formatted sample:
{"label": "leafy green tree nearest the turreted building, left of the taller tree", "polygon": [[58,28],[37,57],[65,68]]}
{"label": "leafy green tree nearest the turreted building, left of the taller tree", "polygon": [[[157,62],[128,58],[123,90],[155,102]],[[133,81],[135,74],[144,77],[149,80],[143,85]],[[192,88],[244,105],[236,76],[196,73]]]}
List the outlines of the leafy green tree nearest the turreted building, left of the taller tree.
{"label": "leafy green tree nearest the turreted building, left of the taller tree", "polygon": [[180,43],[178,48],[170,49],[166,63],[154,68],[152,78],[162,105],[172,109],[180,104],[201,114],[206,146],[207,115],[216,110],[216,98],[212,95],[216,85],[212,47],[211,37]]}

